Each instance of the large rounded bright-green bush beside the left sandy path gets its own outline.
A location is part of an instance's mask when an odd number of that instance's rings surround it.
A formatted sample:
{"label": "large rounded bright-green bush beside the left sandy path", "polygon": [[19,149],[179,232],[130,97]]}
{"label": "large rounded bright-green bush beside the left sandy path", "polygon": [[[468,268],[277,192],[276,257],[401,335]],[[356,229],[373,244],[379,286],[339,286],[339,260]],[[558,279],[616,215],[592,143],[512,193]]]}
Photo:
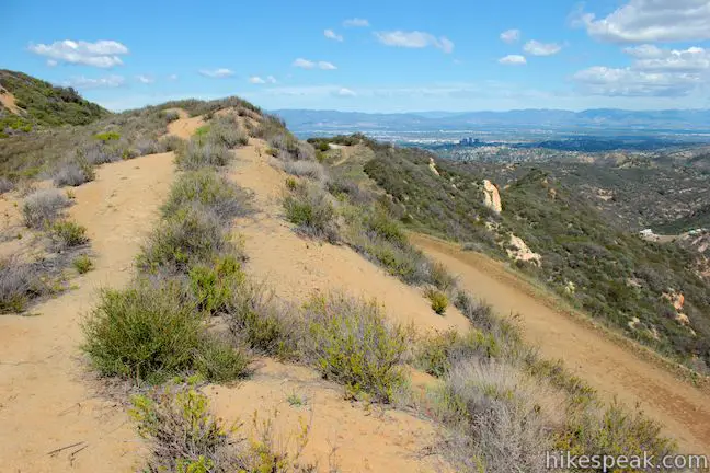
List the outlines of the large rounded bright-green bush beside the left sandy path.
{"label": "large rounded bright-green bush beside the left sandy path", "polygon": [[104,289],[84,321],[83,350],[105,376],[160,381],[193,368],[201,319],[178,284]]}

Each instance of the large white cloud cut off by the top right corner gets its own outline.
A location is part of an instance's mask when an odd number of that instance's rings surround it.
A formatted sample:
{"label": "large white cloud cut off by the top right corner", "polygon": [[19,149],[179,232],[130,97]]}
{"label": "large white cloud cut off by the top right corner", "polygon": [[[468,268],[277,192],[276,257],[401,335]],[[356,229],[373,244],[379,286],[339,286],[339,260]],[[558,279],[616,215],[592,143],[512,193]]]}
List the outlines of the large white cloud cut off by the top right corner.
{"label": "large white cloud cut off by the top right corner", "polygon": [[611,43],[710,39],[708,0],[629,0],[603,19],[584,11],[576,16],[591,36]]}

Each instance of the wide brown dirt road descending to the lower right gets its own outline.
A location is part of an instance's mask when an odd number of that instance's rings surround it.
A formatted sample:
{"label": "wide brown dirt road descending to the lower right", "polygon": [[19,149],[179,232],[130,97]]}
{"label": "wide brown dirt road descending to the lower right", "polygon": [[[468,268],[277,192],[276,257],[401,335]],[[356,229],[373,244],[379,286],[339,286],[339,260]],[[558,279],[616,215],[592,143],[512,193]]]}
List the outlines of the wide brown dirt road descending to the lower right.
{"label": "wide brown dirt road descending to the lower right", "polygon": [[542,355],[561,358],[607,400],[639,405],[675,437],[682,449],[710,453],[710,399],[639,354],[535,297],[529,285],[483,255],[412,234],[413,243],[460,276],[462,285],[499,313],[519,313],[524,334]]}

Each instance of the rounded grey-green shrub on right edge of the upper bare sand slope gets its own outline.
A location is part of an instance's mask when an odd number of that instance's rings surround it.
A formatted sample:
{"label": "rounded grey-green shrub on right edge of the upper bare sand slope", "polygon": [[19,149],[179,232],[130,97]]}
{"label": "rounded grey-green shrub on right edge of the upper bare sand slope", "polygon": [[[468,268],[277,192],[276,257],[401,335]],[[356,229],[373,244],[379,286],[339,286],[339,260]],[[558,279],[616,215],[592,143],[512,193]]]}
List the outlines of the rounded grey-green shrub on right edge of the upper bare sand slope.
{"label": "rounded grey-green shrub on right edge of the upper bare sand slope", "polygon": [[284,197],[286,218],[309,236],[331,243],[339,239],[335,209],[323,189],[301,183]]}

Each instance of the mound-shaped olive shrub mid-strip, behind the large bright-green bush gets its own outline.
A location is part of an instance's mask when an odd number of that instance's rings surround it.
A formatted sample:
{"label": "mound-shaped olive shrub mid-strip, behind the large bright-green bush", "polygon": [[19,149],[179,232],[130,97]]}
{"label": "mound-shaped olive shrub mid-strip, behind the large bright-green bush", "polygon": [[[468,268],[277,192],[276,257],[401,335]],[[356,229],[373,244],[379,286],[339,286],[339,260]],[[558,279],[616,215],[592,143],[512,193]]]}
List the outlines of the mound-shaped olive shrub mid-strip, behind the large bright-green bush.
{"label": "mound-shaped olive shrub mid-strip, behind the large bright-green bush", "polygon": [[231,250],[229,235],[219,218],[202,206],[184,207],[150,234],[138,255],[138,267],[149,273],[186,273],[227,250]]}

